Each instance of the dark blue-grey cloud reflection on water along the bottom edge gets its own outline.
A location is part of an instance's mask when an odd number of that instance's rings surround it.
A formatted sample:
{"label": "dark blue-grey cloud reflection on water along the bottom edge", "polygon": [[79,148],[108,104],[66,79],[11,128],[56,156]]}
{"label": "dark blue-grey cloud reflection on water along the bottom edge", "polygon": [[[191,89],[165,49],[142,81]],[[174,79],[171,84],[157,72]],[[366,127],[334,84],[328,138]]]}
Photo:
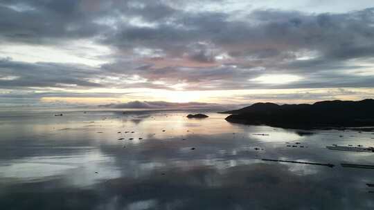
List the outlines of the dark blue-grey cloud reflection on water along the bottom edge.
{"label": "dark blue-grey cloud reflection on water along the bottom edge", "polygon": [[[15,209],[37,205],[40,210],[370,209],[370,195],[348,190],[353,178],[296,175],[283,164],[255,163],[224,171],[209,166],[174,167],[145,177],[114,178],[86,189],[68,187],[59,180],[37,183],[43,189],[15,184],[0,195],[0,204]],[[341,202],[341,198],[349,199]]]}

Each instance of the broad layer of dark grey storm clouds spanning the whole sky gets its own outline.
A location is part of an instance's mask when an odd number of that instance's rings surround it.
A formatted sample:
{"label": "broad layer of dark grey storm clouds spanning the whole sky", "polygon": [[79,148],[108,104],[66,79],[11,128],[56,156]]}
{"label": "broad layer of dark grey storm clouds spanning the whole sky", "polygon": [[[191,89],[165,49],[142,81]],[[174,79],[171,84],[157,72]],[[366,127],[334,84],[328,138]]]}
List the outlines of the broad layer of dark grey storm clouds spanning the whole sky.
{"label": "broad layer of dark grey storm clouds spanning the whole sky", "polygon": [[[0,1],[0,43],[59,48],[90,39],[113,50],[107,55],[110,61],[100,67],[2,60],[1,77],[16,79],[2,79],[0,86],[373,87],[372,66],[367,64],[374,55],[374,8],[340,14],[188,9],[193,3],[197,1]],[[303,79],[290,84],[251,80],[264,74]],[[134,75],[143,80],[125,82]]]}

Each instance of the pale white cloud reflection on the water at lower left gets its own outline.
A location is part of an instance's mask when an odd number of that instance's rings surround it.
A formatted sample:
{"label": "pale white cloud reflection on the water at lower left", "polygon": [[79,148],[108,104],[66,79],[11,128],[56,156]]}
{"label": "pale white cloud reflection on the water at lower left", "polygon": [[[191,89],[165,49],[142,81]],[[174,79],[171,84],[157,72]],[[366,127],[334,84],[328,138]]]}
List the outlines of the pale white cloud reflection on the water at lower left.
{"label": "pale white cloud reflection on the water at lower left", "polygon": [[118,178],[120,174],[111,165],[113,162],[114,158],[103,155],[97,149],[84,153],[78,151],[78,154],[69,156],[23,158],[0,164],[0,177],[19,182],[37,182],[69,174],[66,177],[69,184],[88,186],[101,179]]}

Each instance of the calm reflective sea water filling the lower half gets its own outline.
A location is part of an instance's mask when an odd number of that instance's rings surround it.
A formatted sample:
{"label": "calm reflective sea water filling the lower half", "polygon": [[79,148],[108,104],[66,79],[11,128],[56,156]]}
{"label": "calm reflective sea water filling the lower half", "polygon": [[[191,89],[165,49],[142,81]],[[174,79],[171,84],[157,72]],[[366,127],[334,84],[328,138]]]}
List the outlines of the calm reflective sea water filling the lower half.
{"label": "calm reflective sea water filling the lower half", "polygon": [[374,146],[373,131],[186,118],[195,112],[2,111],[0,207],[374,208],[374,169],[341,166],[374,165],[374,153],[326,149]]}

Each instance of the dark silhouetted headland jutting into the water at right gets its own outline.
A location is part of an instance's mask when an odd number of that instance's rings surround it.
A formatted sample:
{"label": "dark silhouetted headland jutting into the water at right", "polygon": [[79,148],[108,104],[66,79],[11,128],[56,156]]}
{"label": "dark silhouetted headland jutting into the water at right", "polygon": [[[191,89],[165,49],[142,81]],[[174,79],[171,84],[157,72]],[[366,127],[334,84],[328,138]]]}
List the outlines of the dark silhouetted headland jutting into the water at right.
{"label": "dark silhouetted headland jutting into the water at right", "polygon": [[256,103],[227,111],[228,122],[282,128],[374,126],[374,99],[323,101],[314,104]]}

